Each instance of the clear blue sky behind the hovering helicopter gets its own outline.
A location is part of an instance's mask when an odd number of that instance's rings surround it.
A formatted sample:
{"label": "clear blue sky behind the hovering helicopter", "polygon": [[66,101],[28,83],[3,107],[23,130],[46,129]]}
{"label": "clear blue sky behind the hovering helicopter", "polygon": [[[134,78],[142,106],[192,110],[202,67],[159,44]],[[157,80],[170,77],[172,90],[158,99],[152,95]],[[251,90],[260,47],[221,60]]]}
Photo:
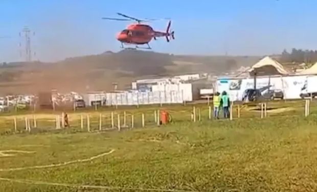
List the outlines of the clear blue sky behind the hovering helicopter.
{"label": "clear blue sky behind the hovering helicopter", "polygon": [[[19,31],[35,32],[36,59],[119,51],[115,39],[129,23],[102,20],[116,12],[172,18],[175,40],[151,42],[154,51],[174,54],[266,55],[284,48],[317,49],[314,0],[0,0],[0,62],[21,60]],[[165,30],[166,21],[155,29]]]}

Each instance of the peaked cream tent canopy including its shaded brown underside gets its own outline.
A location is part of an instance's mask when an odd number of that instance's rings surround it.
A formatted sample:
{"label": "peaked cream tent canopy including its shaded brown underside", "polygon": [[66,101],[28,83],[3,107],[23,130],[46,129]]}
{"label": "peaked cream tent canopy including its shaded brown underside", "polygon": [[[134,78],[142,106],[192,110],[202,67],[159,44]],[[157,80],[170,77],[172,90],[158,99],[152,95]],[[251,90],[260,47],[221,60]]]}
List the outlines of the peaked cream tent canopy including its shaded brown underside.
{"label": "peaked cream tent canopy including its shaded brown underside", "polygon": [[287,75],[288,71],[284,69],[284,67],[278,61],[266,56],[257,62],[252,68],[249,70],[250,74],[257,72],[259,75]]}

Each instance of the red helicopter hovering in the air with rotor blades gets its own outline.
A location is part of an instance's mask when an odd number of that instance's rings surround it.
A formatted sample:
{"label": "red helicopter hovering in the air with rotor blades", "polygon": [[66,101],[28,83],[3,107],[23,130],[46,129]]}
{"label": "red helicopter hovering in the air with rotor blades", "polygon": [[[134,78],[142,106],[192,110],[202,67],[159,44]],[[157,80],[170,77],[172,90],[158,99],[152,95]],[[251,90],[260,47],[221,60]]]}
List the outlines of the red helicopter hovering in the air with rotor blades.
{"label": "red helicopter hovering in the air with rotor blades", "polygon": [[[128,44],[128,45],[135,45],[135,49],[137,48],[151,49],[149,42],[152,40],[152,38],[156,40],[157,37],[166,37],[167,42],[170,41],[169,37],[171,37],[172,39],[175,39],[174,31],[170,31],[171,20],[168,22],[166,32],[161,32],[161,31],[153,30],[153,28],[149,25],[141,24],[142,22],[157,20],[157,19],[141,20],[141,19],[124,15],[122,13],[117,13],[117,14],[126,18],[103,17],[102,19],[121,20],[121,21],[135,20],[138,22],[137,24],[130,24],[126,29],[122,30],[117,35],[117,39],[121,42],[121,48],[125,48],[123,47],[123,44]],[[139,47],[139,45],[145,45],[145,44],[148,47]]]}

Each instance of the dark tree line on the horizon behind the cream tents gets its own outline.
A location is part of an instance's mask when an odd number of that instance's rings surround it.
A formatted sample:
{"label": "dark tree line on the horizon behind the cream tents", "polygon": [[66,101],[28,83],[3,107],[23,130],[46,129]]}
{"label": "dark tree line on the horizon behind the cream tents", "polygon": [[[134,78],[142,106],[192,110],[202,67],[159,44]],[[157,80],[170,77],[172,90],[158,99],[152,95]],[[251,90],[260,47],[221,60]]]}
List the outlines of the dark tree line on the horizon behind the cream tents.
{"label": "dark tree line on the horizon behind the cream tents", "polygon": [[287,52],[287,50],[284,49],[279,60],[283,63],[315,63],[317,62],[317,50],[302,50],[293,48],[291,52]]}

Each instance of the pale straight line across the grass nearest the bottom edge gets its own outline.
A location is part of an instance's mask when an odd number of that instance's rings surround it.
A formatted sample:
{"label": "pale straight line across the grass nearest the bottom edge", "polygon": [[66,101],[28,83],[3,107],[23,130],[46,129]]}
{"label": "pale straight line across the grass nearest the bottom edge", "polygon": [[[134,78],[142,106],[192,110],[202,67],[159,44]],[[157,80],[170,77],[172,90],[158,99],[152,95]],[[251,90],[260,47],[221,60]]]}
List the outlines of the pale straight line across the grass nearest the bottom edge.
{"label": "pale straight line across the grass nearest the bottom edge", "polygon": [[[1,181],[9,181],[15,183],[23,183],[23,184],[35,184],[35,185],[55,185],[55,186],[63,186],[70,188],[90,188],[90,189],[109,189],[109,190],[136,190],[136,191],[165,191],[165,192],[196,192],[196,190],[178,190],[178,189],[159,189],[159,188],[133,188],[133,187],[111,187],[111,186],[102,186],[102,185],[76,185],[69,183],[52,183],[52,182],[44,182],[44,181],[32,181],[32,180],[24,180],[24,179],[10,179],[10,178],[1,178]],[[198,192],[198,191],[197,191]]]}

